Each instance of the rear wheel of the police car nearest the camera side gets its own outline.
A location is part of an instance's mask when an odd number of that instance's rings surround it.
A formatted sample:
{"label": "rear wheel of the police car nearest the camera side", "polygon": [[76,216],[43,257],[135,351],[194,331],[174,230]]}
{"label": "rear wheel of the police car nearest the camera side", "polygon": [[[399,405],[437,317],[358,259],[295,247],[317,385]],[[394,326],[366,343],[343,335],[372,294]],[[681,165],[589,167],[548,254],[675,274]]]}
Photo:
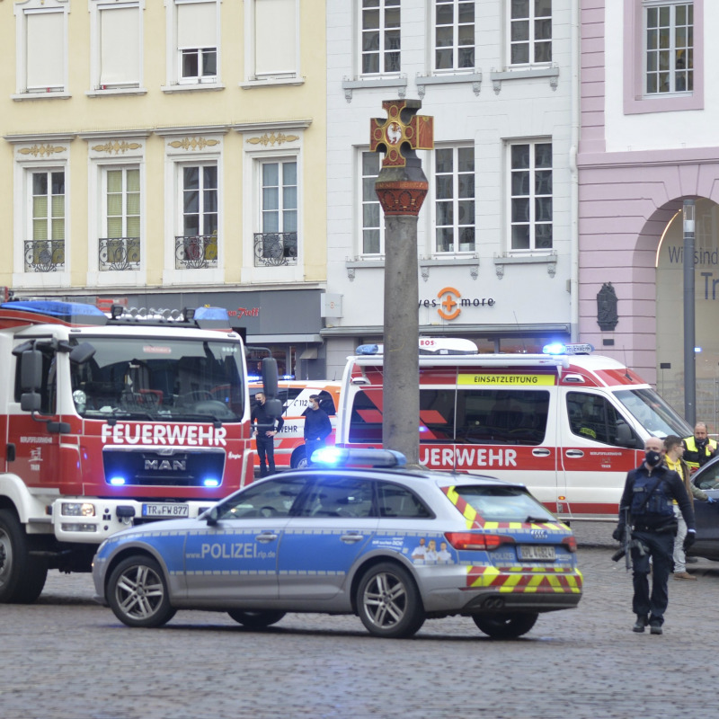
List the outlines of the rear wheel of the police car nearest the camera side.
{"label": "rear wheel of the police car nearest the camera side", "polygon": [[424,624],[422,598],[412,575],[399,564],[375,564],[359,581],[357,609],[370,635],[408,637]]}

